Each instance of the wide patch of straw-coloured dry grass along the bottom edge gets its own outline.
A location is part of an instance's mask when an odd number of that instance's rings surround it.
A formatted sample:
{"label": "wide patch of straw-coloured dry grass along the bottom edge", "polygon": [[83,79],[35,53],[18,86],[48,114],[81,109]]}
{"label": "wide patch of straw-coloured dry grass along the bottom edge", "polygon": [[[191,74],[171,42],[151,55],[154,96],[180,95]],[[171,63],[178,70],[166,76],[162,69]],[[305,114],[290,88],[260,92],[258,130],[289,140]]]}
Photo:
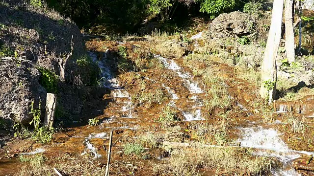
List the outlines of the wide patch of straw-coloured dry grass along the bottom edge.
{"label": "wide patch of straw-coloured dry grass along the bottom edge", "polygon": [[184,150],[180,154],[159,164],[155,164],[153,172],[156,175],[170,174],[173,176],[202,175],[200,169],[225,170],[225,174],[243,171],[253,176],[269,173],[270,162],[267,158],[252,158],[250,151],[235,148],[202,148]]}

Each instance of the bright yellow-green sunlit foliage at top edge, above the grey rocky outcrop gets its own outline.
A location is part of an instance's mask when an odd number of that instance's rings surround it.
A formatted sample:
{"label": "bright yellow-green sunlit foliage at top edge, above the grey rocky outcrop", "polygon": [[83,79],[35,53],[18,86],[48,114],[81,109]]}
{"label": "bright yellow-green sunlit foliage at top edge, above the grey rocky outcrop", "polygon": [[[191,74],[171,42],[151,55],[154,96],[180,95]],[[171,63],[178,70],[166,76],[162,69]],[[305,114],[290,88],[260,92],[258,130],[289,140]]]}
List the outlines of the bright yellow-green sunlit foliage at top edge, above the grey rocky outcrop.
{"label": "bright yellow-green sunlit foliage at top edge, above the grey rocky outcrop", "polygon": [[201,2],[201,12],[207,12],[210,19],[214,19],[217,15],[232,10],[238,1],[236,0],[196,0]]}

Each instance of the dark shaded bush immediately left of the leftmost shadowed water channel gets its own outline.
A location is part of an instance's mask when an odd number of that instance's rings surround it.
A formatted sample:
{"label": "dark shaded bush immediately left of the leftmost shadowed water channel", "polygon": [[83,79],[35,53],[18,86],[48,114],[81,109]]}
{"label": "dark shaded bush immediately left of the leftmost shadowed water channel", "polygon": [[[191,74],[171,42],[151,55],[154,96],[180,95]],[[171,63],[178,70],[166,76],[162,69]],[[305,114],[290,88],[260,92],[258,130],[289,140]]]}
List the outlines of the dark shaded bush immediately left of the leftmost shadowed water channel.
{"label": "dark shaded bush immediately left of the leftmost shadowed water channel", "polygon": [[88,55],[83,55],[77,60],[80,69],[81,81],[84,86],[94,86],[97,83],[100,68]]}

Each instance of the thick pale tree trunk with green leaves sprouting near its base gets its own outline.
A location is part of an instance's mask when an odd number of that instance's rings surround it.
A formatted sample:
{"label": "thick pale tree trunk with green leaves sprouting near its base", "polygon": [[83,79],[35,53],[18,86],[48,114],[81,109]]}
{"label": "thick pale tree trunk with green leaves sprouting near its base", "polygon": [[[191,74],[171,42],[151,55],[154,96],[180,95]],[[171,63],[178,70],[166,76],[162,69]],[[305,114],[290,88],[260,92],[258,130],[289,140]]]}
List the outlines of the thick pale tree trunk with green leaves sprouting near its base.
{"label": "thick pale tree trunk with green leaves sprouting near its base", "polygon": [[262,98],[268,98],[271,104],[276,96],[277,66],[276,58],[281,39],[284,0],[274,0],[271,25],[269,29],[264,59],[262,62]]}

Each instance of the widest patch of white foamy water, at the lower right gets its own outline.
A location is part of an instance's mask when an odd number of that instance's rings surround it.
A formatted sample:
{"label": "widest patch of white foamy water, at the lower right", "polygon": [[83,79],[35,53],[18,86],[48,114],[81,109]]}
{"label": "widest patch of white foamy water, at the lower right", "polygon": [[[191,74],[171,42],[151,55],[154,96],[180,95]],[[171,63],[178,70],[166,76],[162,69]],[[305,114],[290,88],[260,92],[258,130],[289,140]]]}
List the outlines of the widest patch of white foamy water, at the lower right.
{"label": "widest patch of white foamy water, at the lower right", "polygon": [[296,171],[289,167],[289,162],[300,157],[296,151],[288,149],[288,146],[280,138],[281,133],[273,129],[241,128],[242,137],[238,139],[241,147],[261,149],[253,154],[276,157],[283,162],[283,168],[272,169],[274,176],[299,176]]}

